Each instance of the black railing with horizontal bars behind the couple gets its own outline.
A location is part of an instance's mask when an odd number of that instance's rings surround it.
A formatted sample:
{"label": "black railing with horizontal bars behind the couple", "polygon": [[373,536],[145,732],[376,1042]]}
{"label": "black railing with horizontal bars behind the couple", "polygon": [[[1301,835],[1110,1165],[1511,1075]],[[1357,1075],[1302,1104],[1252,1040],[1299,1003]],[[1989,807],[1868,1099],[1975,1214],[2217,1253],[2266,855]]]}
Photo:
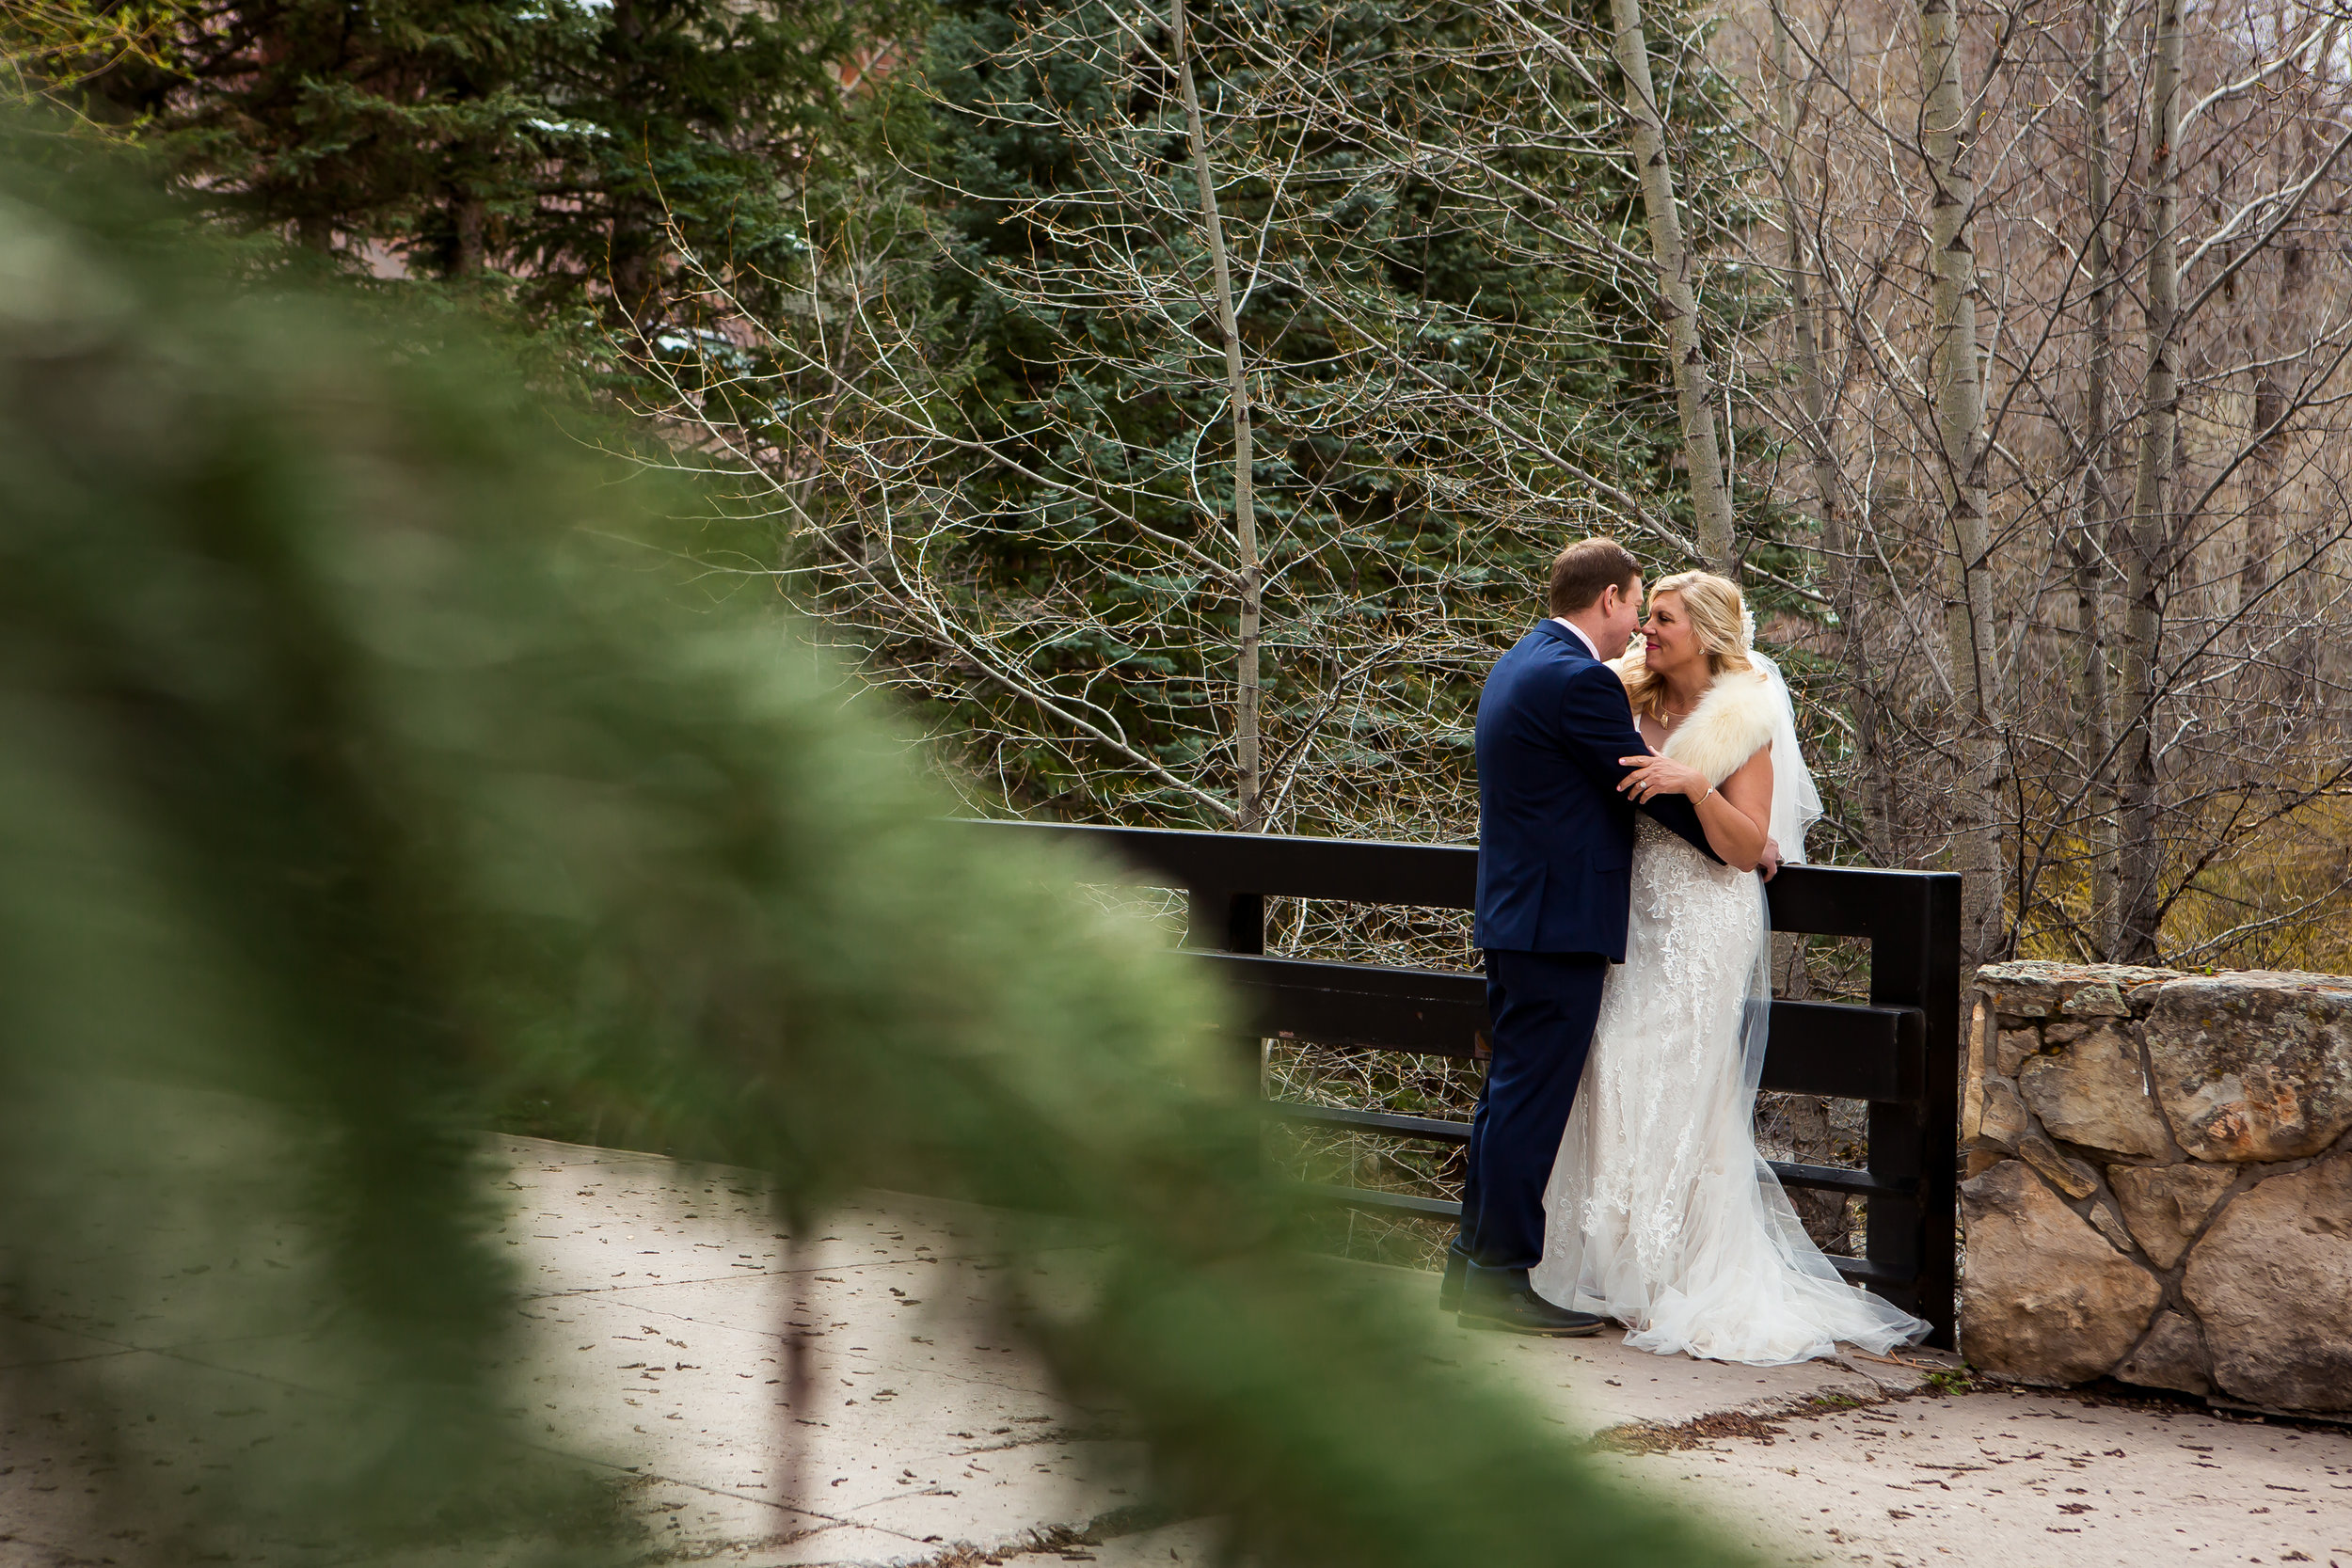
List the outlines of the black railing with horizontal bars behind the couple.
{"label": "black railing with horizontal bars behind the couple", "polygon": [[[1477,849],[1249,832],[981,823],[988,832],[1080,842],[1155,886],[1185,889],[1185,947],[1242,997],[1258,1037],[1324,1046],[1479,1056],[1486,980],[1432,969],[1265,957],[1265,900],[1468,910]],[[1870,1103],[1867,1166],[1773,1161],[1790,1187],[1865,1199],[1846,1279],[1936,1326],[1952,1345],[1952,1211],[1959,1131],[1959,877],[1792,865],[1771,879],[1773,931],[1870,943],[1870,1001],[1773,1001],[1764,1088]],[[1465,1143],[1468,1121],[1268,1103],[1284,1121]],[[1458,1218],[1461,1204],[1404,1192],[1317,1187],[1357,1208]]]}

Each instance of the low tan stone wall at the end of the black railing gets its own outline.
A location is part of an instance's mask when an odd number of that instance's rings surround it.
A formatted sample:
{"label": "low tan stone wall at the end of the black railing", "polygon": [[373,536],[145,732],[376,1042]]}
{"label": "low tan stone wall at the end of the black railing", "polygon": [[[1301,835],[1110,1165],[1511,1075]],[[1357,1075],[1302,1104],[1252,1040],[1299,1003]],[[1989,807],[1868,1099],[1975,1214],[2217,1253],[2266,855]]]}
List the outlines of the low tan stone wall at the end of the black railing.
{"label": "low tan stone wall at the end of the black railing", "polygon": [[1962,1105],[1962,1354],[2352,1410],[2352,978],[1990,964]]}

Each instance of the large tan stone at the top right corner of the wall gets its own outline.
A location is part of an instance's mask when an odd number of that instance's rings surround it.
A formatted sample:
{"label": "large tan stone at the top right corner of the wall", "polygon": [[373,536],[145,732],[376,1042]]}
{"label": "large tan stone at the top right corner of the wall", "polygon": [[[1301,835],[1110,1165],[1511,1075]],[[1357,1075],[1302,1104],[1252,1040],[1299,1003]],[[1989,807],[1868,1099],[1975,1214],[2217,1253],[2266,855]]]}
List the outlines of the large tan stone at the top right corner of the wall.
{"label": "large tan stone at the top right corner of the wall", "polygon": [[2352,1128],[2352,980],[2173,980],[2147,1013],[2157,1098],[2197,1159],[2317,1154]]}

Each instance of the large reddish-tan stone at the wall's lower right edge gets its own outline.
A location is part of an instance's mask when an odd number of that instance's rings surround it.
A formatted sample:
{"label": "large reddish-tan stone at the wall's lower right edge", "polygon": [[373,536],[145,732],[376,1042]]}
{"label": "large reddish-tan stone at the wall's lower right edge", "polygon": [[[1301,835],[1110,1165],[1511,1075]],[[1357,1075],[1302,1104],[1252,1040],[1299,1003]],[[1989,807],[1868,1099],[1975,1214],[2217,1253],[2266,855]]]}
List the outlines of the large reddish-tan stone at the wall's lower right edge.
{"label": "large reddish-tan stone at the wall's lower right edge", "polygon": [[2190,1251],[2180,1293],[2227,1394],[2352,1410],[2352,1152],[2237,1194]]}

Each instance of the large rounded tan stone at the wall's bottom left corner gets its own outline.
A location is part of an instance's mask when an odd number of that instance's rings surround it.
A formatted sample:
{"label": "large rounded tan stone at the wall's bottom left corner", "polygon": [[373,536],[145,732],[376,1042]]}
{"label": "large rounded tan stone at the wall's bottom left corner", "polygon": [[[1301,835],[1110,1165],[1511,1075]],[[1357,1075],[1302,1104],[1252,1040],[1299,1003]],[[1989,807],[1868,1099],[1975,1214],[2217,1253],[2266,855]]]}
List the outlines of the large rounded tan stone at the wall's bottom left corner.
{"label": "large rounded tan stone at the wall's bottom left corner", "polygon": [[1959,1194],[1969,1361],[2030,1382],[2086,1382],[2138,1345],[2161,1295],[2157,1276],[2107,1246],[2023,1161],[2004,1159]]}

